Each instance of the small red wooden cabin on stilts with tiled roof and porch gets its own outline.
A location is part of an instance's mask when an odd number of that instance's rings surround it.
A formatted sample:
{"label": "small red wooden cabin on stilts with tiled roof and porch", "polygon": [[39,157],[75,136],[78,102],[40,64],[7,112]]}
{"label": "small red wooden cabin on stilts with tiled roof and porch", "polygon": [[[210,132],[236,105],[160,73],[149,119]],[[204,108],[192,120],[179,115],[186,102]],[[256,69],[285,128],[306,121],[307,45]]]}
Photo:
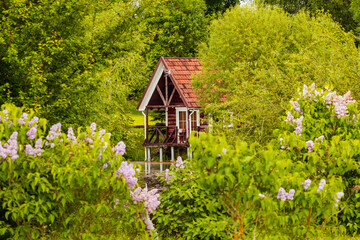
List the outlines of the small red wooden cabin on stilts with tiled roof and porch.
{"label": "small red wooden cabin on stilts with tiled roof and porch", "polygon": [[[191,76],[201,70],[195,58],[160,58],[137,107],[145,117],[145,158],[150,159],[150,148],[157,147],[162,160],[163,149],[171,147],[174,159],[174,148],[188,148],[191,132],[206,127],[190,84]],[[149,126],[149,110],[165,111],[165,126]]]}

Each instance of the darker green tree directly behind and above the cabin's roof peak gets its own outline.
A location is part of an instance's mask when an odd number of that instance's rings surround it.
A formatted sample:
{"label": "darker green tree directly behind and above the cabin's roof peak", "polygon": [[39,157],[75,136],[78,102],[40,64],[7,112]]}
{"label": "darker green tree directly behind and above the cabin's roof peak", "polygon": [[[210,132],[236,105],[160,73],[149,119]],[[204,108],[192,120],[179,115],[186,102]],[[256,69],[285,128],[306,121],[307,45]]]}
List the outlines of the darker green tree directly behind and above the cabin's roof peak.
{"label": "darker green tree directly behind and above the cabin's roof peak", "polygon": [[192,57],[206,40],[208,21],[204,0],[142,0],[141,19],[147,47],[144,55],[155,69],[161,56]]}

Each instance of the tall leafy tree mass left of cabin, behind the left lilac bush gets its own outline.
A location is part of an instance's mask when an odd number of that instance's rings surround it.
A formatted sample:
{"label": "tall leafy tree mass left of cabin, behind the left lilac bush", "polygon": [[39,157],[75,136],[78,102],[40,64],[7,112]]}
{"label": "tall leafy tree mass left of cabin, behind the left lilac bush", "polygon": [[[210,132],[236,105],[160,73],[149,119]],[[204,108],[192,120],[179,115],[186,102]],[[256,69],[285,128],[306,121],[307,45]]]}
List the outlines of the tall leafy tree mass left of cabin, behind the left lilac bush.
{"label": "tall leafy tree mass left of cabin, behind the left lilac bush", "polygon": [[[6,1],[0,23],[0,100],[50,123],[98,122],[124,139],[128,96],[146,79],[145,45],[129,1]],[[119,135],[117,135],[120,133]]]}

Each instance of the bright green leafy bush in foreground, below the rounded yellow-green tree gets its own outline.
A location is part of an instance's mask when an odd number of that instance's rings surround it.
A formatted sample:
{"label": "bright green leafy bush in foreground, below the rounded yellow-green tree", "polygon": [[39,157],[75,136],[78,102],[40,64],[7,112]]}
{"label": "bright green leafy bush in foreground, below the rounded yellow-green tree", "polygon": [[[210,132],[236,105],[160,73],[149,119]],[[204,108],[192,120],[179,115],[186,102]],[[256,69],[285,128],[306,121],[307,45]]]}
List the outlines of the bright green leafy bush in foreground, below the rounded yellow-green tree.
{"label": "bright green leafy bush in foreground, below the rounded yellow-green tree", "polygon": [[[191,145],[196,168],[201,169],[198,183],[218,195],[232,218],[228,230],[233,239],[320,236],[321,223],[336,213],[333,196],[341,190],[341,178],[327,179],[324,191],[317,192],[320,179],[305,190],[303,166],[274,145],[265,149],[246,142],[228,145],[224,137],[206,134],[193,138]],[[278,199],[280,187],[287,192],[294,189],[293,199]]]}

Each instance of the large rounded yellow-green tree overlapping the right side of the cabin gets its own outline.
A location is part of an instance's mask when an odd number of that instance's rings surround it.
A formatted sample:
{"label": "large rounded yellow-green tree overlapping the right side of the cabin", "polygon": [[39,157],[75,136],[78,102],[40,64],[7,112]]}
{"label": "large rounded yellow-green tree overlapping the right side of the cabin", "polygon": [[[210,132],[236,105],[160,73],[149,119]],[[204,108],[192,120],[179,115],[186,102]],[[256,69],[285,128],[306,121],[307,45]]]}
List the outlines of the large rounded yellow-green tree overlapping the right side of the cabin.
{"label": "large rounded yellow-green tree overlapping the right side of the cabin", "polygon": [[360,92],[353,35],[326,14],[238,6],[212,22],[199,55],[204,72],[193,85],[213,132],[242,140],[271,139],[294,89],[304,83],[332,84],[340,93],[351,88],[355,97]]}

